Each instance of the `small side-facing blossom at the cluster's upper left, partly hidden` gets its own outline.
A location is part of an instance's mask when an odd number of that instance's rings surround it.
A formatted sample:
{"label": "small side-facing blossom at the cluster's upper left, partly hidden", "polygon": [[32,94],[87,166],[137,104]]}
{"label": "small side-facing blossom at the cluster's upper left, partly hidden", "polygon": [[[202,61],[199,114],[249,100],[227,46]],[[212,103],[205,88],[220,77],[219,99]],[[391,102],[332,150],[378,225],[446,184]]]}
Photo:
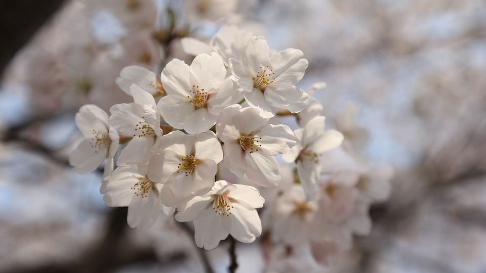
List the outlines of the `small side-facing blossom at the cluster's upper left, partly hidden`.
{"label": "small side-facing blossom at the cluster's upper left, partly hidden", "polygon": [[132,96],[130,91],[132,84],[138,85],[152,96],[165,94],[160,78],[142,66],[131,65],[121,69],[120,76],[116,78],[116,84],[130,96]]}

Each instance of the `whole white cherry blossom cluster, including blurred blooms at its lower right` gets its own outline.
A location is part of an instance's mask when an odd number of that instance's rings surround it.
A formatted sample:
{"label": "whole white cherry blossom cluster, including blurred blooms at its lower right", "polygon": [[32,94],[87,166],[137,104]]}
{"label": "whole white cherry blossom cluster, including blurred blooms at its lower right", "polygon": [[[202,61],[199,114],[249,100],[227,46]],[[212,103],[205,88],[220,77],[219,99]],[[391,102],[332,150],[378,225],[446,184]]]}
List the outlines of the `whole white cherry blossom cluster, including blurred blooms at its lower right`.
{"label": "whole white cherry blossom cluster, including blurred blooms at its lower right", "polygon": [[[128,206],[128,224],[139,230],[177,211],[177,221],[194,222],[205,249],[228,235],[251,243],[262,230],[276,244],[340,249],[366,234],[380,187],[358,167],[333,167],[346,165],[340,152],[350,153],[309,97],[322,84],[308,92],[296,86],[308,66],[302,51],[274,51],[235,26],[209,43],[183,38],[182,45],[194,55],[190,65],[173,59],[160,77],[138,66],[121,70],[116,83],[133,103],[112,106],[109,117],[94,105],[76,115],[85,139],[70,163],[84,173],[105,161],[106,204]],[[301,128],[281,124],[284,115]]]}

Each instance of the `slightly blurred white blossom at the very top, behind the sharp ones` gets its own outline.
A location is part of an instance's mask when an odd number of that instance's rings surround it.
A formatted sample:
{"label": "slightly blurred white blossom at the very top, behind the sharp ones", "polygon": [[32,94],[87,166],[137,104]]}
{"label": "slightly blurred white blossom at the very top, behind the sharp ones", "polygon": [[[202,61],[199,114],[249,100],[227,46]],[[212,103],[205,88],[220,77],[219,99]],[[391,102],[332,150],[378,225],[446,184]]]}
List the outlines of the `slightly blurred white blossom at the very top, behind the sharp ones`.
{"label": "slightly blurred white blossom at the very top, behind the sharp ones", "polygon": [[224,66],[229,67],[229,59],[239,60],[242,56],[245,45],[250,41],[253,33],[237,26],[222,26],[213,36],[209,44],[198,39],[187,37],[182,38],[184,52],[193,56],[212,51],[218,53],[223,59]]}

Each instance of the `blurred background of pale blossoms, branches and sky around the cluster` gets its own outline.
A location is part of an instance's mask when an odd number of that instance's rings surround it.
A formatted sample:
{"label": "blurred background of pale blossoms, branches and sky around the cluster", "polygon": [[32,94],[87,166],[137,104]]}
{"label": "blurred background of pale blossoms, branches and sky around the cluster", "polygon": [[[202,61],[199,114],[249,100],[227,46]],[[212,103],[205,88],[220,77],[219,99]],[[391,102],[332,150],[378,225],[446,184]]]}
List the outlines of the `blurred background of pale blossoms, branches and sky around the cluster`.
{"label": "blurred background of pale blossoms, branches and sky around the cluster", "polygon": [[[301,49],[299,86],[327,82],[314,96],[328,118],[359,105],[363,153],[394,168],[372,234],[330,271],[486,272],[483,0],[17,0],[0,12],[0,272],[204,270],[173,220],[130,229],[99,194],[102,170],[75,174],[67,155],[80,106],[132,100],[115,84],[123,67],[190,62],[180,38],[222,24]],[[238,272],[261,271],[259,251],[240,244]],[[225,244],[208,259],[224,272]]]}

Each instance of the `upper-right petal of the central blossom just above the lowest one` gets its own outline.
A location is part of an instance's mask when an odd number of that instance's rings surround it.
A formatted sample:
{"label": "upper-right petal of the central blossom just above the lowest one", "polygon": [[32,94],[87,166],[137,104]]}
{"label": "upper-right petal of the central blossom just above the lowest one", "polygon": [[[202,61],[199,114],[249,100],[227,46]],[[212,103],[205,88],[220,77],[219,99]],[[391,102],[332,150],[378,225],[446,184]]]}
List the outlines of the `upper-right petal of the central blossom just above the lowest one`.
{"label": "upper-right petal of the central blossom just above the lowest one", "polygon": [[214,132],[207,131],[197,135],[194,156],[198,159],[211,159],[216,163],[223,160],[223,149]]}

